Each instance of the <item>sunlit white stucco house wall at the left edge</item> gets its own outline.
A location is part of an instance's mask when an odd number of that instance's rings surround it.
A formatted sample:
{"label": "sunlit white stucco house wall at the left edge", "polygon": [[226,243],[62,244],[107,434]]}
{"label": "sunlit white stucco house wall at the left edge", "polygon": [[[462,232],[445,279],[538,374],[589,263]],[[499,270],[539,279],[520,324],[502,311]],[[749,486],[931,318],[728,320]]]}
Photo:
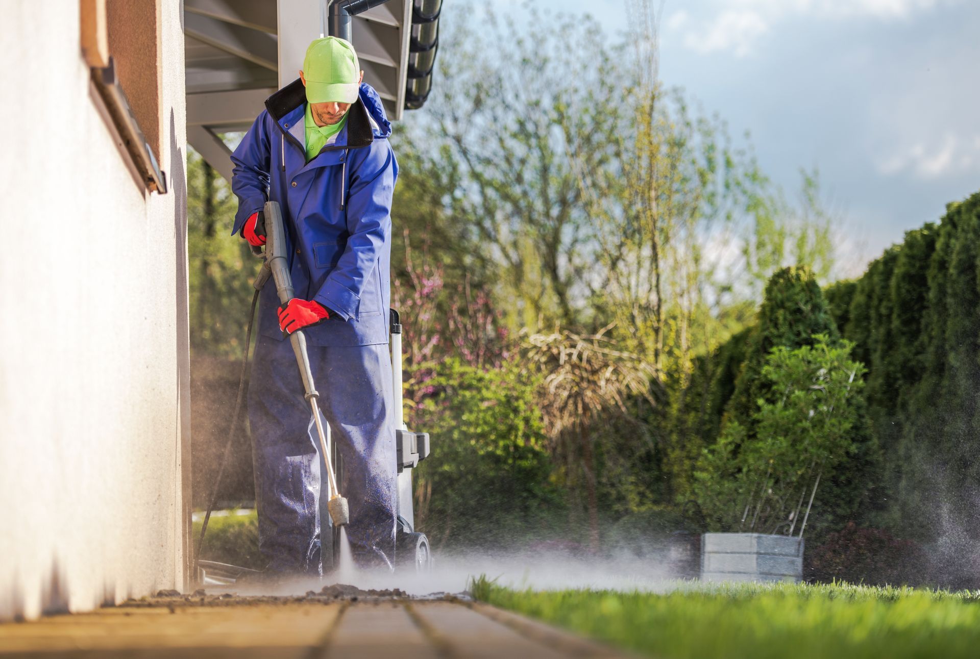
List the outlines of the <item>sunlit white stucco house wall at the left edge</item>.
{"label": "sunlit white stucco house wall at the left edge", "polygon": [[149,194],[90,97],[76,0],[0,3],[0,619],[182,586],[183,35]]}

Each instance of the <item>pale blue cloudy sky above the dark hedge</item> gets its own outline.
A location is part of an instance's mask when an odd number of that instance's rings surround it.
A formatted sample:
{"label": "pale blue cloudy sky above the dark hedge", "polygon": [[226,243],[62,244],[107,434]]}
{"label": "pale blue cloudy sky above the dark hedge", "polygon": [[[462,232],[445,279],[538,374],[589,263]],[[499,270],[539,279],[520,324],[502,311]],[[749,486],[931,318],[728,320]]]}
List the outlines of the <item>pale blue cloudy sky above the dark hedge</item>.
{"label": "pale blue cloudy sky above the dark hedge", "polygon": [[[611,33],[623,0],[540,0]],[[519,0],[495,0],[513,5]],[[980,190],[980,0],[655,0],[661,78],[792,196],[817,167],[848,274]],[[448,11],[452,4],[447,3]]]}

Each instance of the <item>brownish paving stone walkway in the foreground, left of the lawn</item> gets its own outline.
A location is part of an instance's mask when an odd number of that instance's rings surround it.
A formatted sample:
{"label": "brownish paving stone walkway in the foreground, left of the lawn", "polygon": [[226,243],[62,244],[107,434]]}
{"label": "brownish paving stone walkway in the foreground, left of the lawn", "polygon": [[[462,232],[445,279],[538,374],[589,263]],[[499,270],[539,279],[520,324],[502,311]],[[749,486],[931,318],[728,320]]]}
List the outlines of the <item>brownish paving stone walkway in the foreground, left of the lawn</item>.
{"label": "brownish paving stone walkway in the foreground, left of the lawn", "polygon": [[0,625],[0,659],[620,656],[603,645],[456,597],[180,596]]}

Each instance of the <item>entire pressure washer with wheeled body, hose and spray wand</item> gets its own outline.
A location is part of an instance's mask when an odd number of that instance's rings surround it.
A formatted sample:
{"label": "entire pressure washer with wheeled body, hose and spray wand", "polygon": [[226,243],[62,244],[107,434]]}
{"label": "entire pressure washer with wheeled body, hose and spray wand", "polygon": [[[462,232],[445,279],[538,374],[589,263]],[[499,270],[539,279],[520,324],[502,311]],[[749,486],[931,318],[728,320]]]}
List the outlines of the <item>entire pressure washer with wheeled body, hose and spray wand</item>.
{"label": "entire pressure washer with wheeled body, hose and spray wand", "polygon": [[[249,348],[252,341],[252,328],[255,321],[255,310],[259,301],[259,292],[271,279],[275,285],[280,304],[286,305],[295,296],[286,249],[285,225],[282,212],[277,202],[267,202],[265,209],[265,226],[260,232],[267,236],[266,249],[252,247],[252,253],[263,259],[262,269],[253,283],[255,294],[249,315],[248,331],[245,339],[245,355],[242,361],[241,377],[238,383],[238,395],[235,400],[234,413],[228,429],[221,466],[215,480],[214,492],[209,501],[201,527],[201,535],[197,543],[196,574],[198,583],[204,585],[229,585],[247,575],[254,575],[255,570],[227,565],[215,561],[201,560],[201,549],[208,530],[208,521],[218,499],[221,477],[231,453],[234,430],[237,427],[238,415],[241,411],[245,392],[246,376],[249,365]],[[398,527],[395,536],[396,569],[412,572],[426,572],[432,568],[432,552],[428,539],[424,534],[415,530],[415,510],[412,500],[412,470],[421,460],[429,455],[428,433],[414,432],[405,425],[404,400],[402,391],[402,323],[398,311],[390,309],[390,342],[392,391],[394,393],[395,412],[395,444],[397,454],[397,510]],[[319,411],[319,393],[315,385],[314,375],[310,368],[307,355],[306,336],[302,330],[289,335],[289,341],[296,354],[296,362],[303,381],[304,398],[310,403],[313,425],[317,429],[320,456],[320,492],[328,493],[320,496],[320,555],[324,573],[337,567],[340,555],[340,528],[349,522],[347,499],[339,492],[337,483],[343,474],[343,460],[337,450],[336,443],[331,441],[330,427],[322,418]],[[329,541],[328,541],[329,539]]]}

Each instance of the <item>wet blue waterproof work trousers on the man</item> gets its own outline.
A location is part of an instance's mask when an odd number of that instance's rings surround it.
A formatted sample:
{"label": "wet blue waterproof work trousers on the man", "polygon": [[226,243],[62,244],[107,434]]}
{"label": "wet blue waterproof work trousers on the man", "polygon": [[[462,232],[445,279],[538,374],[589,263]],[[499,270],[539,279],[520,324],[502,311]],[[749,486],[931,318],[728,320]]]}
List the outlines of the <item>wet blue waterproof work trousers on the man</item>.
{"label": "wet blue waterproof work trousers on the man", "polygon": [[[342,321],[327,321],[342,322]],[[307,346],[319,408],[330,425],[343,469],[340,494],[350,504],[347,537],[362,566],[394,562],[397,509],[391,361],[387,345]],[[260,336],[249,387],[249,422],[259,508],[259,546],[267,569],[322,574],[322,479],[319,439],[303,398],[296,356],[288,340]],[[329,567],[329,566],[327,566]]]}

